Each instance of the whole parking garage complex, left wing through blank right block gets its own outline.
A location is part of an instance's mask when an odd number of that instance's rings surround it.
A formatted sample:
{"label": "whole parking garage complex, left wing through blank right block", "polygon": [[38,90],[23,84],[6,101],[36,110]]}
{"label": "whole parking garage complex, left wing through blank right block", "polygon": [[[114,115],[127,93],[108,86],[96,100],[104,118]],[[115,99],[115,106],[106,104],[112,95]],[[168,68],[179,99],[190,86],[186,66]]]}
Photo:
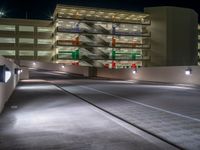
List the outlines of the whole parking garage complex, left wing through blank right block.
{"label": "whole parking garage complex, left wing through blank right block", "polygon": [[0,55],[106,68],[196,65],[197,18],[177,7],[57,5],[49,21],[0,18]]}

